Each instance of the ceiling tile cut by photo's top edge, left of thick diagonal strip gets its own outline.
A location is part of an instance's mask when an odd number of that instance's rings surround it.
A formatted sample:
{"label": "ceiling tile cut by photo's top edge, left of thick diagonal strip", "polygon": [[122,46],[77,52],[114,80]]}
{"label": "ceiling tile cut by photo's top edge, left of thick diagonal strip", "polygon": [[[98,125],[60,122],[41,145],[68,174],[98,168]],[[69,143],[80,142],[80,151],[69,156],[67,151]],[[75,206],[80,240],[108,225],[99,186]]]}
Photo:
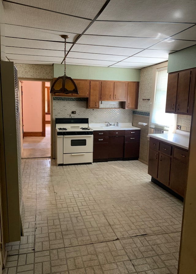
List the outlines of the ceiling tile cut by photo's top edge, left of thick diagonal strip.
{"label": "ceiling tile cut by photo's top edge, left of thick diagonal strip", "polygon": [[82,3],[81,0],[15,0],[14,2],[90,19],[93,19],[105,4],[105,0],[85,0]]}

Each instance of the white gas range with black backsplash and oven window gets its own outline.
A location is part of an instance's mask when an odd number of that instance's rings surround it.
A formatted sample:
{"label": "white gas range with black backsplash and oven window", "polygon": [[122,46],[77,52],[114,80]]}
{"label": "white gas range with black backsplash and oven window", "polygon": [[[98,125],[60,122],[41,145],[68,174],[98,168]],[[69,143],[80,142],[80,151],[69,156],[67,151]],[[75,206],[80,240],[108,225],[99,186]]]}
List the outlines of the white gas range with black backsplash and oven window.
{"label": "white gas range with black backsplash and oven window", "polygon": [[88,118],[56,118],[57,165],[92,164],[93,130]]}

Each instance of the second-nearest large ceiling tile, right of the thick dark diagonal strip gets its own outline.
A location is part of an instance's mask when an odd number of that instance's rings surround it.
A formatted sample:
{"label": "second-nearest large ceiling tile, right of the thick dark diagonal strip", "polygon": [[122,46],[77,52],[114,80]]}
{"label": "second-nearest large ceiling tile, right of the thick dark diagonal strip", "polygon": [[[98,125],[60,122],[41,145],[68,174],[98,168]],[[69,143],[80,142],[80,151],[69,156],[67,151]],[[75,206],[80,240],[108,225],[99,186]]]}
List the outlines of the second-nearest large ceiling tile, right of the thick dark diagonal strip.
{"label": "second-nearest large ceiling tile, right of the thick dark diagonal strip", "polygon": [[148,22],[94,22],[85,34],[168,38],[193,24]]}

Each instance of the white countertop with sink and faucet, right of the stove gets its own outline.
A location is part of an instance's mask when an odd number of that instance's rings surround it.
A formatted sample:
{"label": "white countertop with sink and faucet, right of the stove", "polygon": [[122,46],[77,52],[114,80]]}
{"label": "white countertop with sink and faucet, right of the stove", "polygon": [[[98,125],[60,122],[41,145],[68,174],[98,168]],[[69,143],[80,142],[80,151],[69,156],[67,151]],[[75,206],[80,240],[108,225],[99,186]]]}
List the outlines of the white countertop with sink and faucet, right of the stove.
{"label": "white countertop with sink and faucet, right of the stove", "polygon": [[140,127],[133,127],[132,123],[119,123],[119,126],[109,126],[107,127],[105,123],[94,123],[89,124],[93,130],[136,130],[140,129]]}

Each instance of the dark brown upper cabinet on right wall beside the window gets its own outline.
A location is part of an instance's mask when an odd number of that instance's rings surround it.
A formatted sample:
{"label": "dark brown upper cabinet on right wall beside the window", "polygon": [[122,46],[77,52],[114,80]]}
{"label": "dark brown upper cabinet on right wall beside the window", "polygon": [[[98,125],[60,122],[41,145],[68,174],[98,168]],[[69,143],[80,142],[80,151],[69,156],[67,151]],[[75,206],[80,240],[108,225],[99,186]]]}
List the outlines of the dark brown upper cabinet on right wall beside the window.
{"label": "dark brown upper cabinet on right wall beside the window", "polygon": [[165,112],[192,114],[196,68],[168,74]]}

